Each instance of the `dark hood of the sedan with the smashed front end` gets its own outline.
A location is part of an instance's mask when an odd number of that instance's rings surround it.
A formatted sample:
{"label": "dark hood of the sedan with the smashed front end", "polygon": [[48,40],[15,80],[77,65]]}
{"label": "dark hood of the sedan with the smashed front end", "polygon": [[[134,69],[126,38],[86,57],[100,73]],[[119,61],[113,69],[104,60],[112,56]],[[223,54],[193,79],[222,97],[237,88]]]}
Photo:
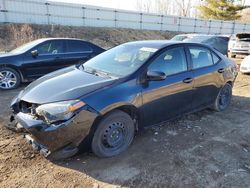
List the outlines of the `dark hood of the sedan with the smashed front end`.
{"label": "dark hood of the sedan with the smashed front end", "polygon": [[72,66],[34,81],[19,94],[17,100],[45,104],[79,99],[111,85],[115,80],[95,76]]}

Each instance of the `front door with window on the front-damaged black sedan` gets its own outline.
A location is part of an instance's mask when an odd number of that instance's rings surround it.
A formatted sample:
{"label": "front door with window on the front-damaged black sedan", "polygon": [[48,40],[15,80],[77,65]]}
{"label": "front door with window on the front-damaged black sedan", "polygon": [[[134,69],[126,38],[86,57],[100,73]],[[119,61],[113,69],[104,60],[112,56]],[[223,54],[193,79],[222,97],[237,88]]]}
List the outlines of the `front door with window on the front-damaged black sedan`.
{"label": "front door with window on the front-damaged black sedan", "polygon": [[149,65],[148,71],[167,75],[162,81],[148,81],[142,88],[143,124],[158,124],[192,109],[193,73],[189,71],[182,46],[162,52]]}

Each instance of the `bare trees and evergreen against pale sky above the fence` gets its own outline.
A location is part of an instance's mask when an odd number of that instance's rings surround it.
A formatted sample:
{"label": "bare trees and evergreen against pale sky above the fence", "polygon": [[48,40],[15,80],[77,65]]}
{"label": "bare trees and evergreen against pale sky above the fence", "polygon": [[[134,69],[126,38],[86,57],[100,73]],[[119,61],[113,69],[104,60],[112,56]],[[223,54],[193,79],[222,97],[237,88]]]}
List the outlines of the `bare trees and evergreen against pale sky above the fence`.
{"label": "bare trees and evergreen against pale sky above the fence", "polygon": [[204,19],[237,20],[248,8],[245,0],[137,0],[136,9],[146,13]]}

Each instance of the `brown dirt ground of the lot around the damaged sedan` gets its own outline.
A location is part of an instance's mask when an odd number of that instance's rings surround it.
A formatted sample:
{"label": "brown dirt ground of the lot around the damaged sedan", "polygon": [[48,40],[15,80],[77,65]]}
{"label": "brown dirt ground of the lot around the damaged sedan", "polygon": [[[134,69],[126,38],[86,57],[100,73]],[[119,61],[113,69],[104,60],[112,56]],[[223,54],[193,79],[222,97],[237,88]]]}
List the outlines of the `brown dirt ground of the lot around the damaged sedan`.
{"label": "brown dirt ground of the lot around the damaged sedan", "polygon": [[[20,89],[19,89],[20,90]],[[204,110],[137,135],[120,156],[52,163],[3,127],[18,91],[0,91],[0,187],[250,187],[250,75],[231,107]]]}

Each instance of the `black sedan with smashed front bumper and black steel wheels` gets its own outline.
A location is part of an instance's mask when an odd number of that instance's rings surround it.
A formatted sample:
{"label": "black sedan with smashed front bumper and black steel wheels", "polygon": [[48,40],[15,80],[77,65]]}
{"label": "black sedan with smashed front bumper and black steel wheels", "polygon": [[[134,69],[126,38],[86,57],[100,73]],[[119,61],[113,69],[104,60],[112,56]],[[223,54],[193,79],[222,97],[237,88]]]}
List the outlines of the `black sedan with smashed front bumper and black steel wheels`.
{"label": "black sedan with smashed front bumper and black steel wheels", "polygon": [[26,129],[50,158],[88,144],[111,157],[145,127],[208,107],[225,110],[236,76],[236,64],[206,45],[126,43],[31,83],[13,99],[9,126]]}

